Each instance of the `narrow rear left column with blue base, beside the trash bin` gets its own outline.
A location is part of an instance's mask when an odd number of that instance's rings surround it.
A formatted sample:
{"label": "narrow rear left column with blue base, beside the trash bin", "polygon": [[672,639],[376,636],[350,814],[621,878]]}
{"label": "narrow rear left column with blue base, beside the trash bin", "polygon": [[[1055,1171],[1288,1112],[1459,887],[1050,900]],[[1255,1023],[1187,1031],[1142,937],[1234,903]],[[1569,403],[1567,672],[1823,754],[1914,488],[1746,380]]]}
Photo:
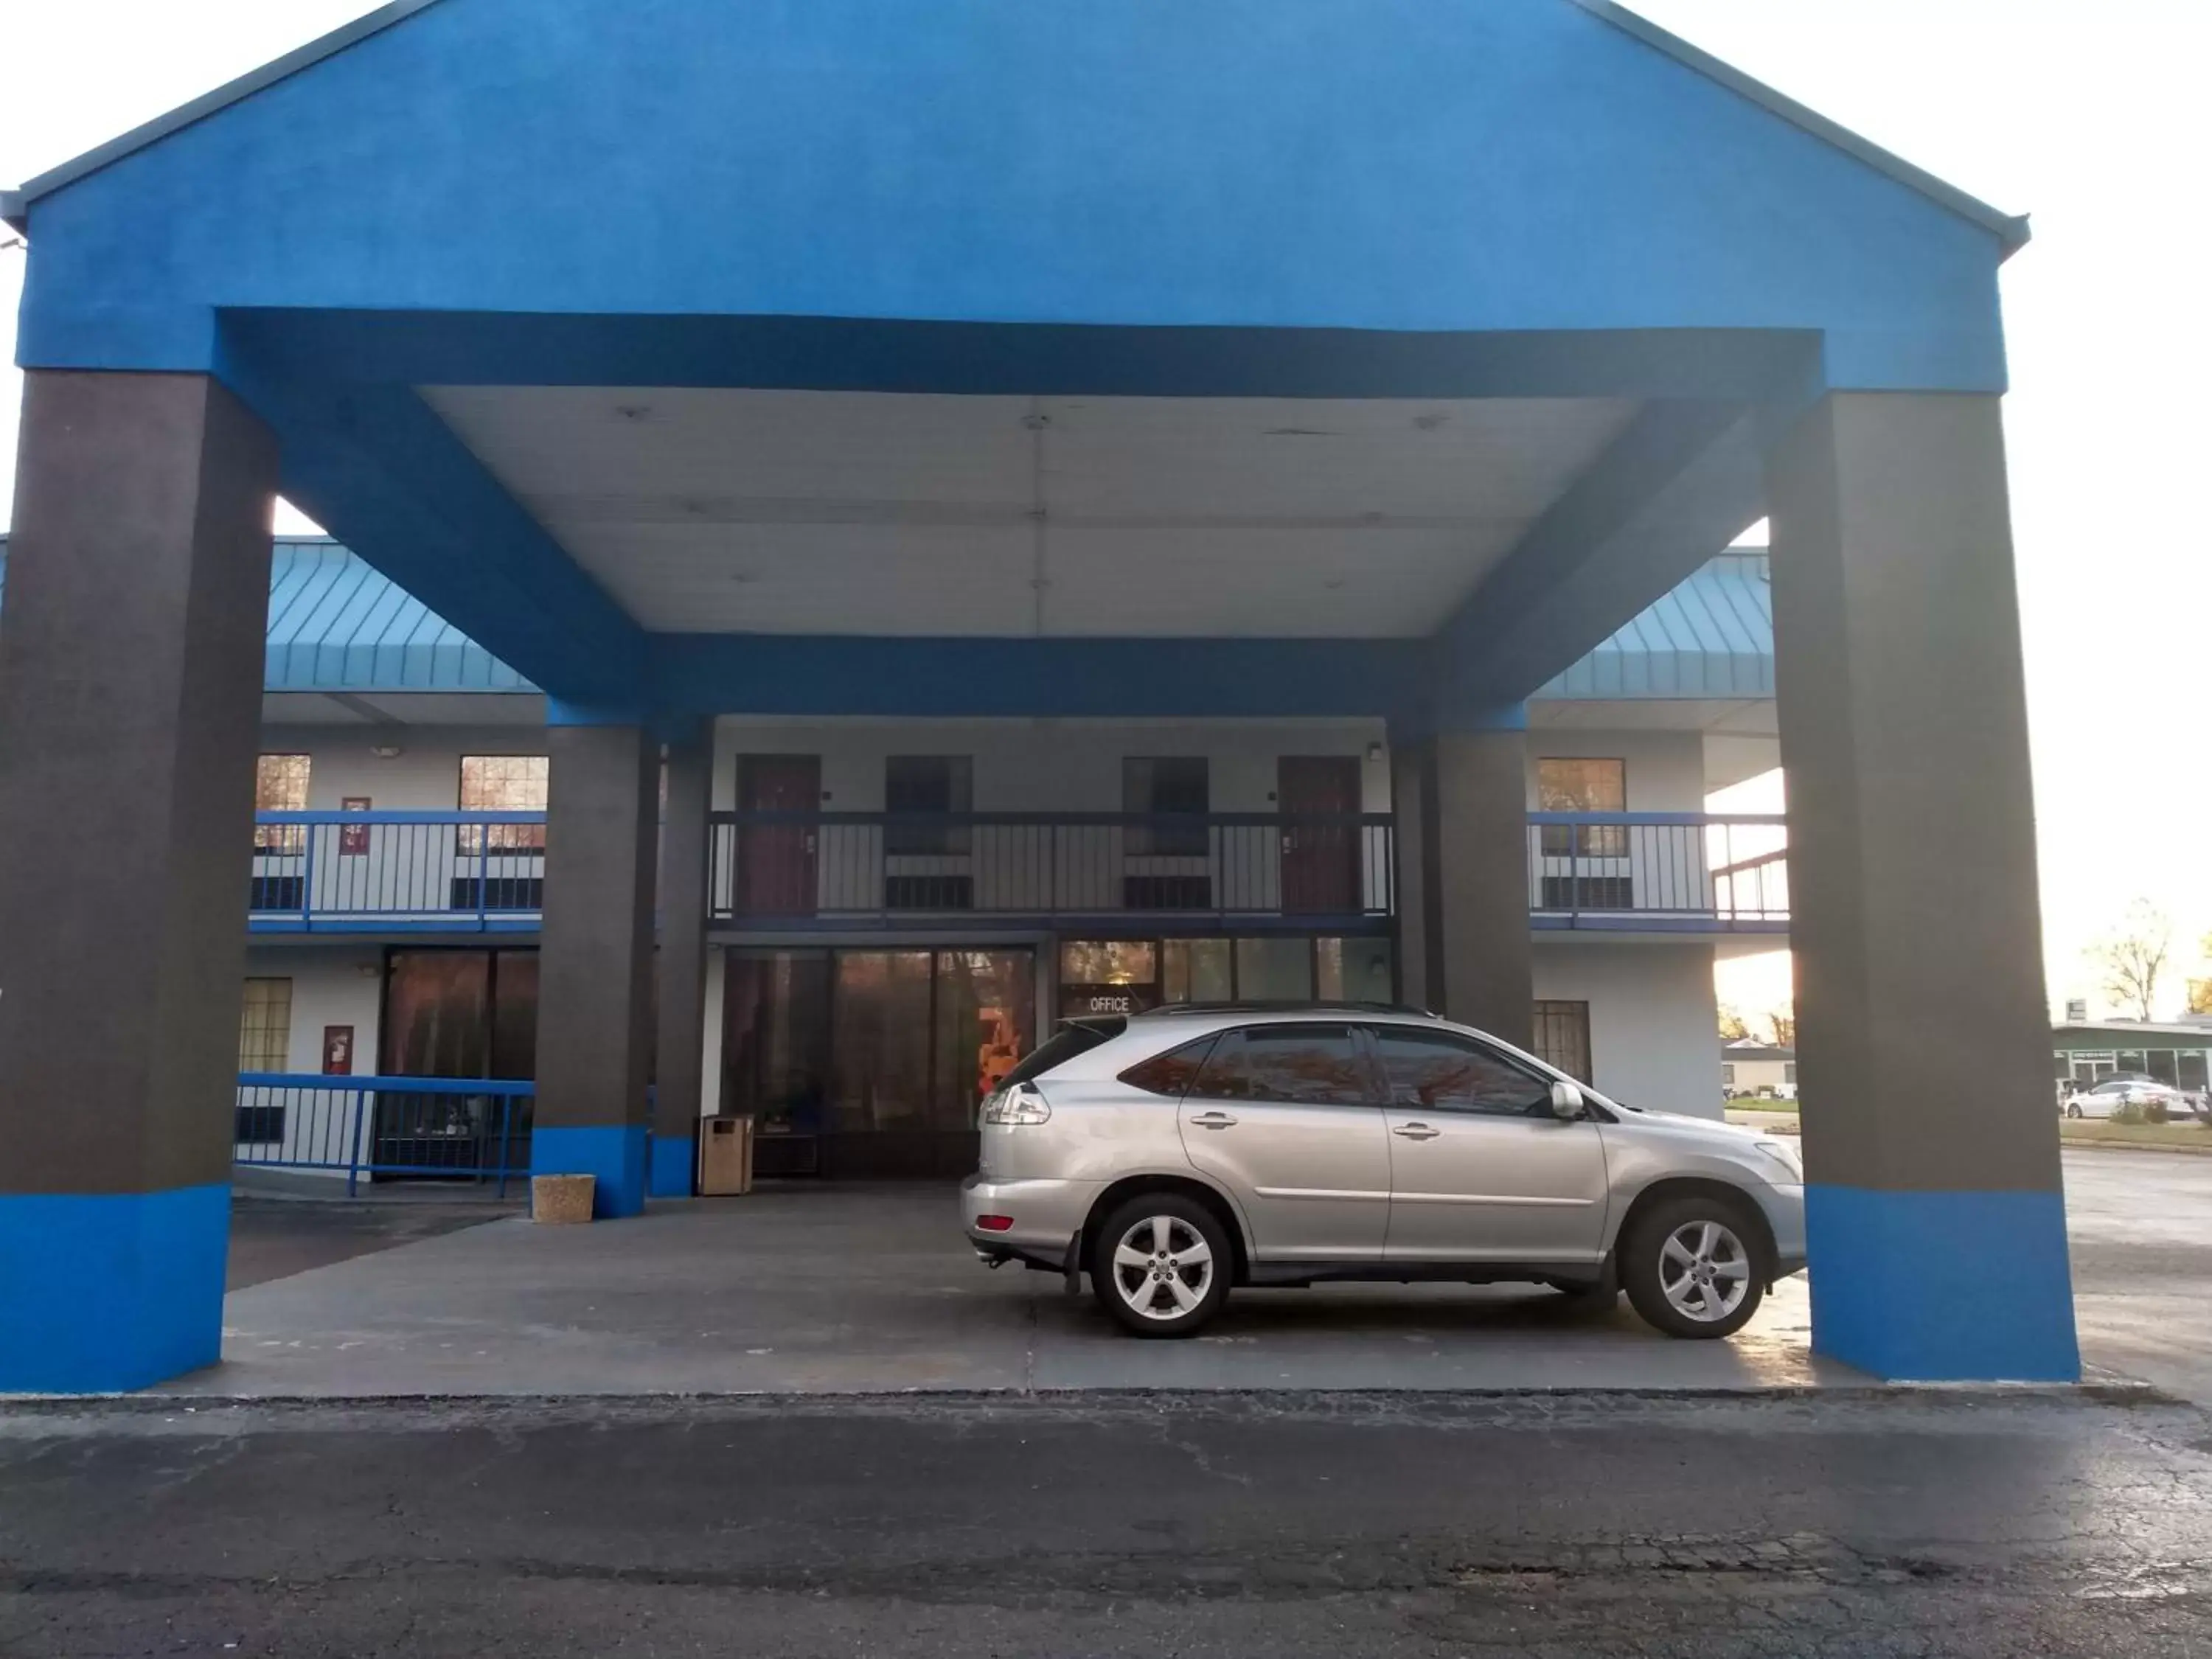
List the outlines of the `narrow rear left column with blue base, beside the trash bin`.
{"label": "narrow rear left column with blue base, beside the trash bin", "polygon": [[714,728],[668,745],[661,810],[661,949],[653,1066],[653,1197],[688,1199],[699,1152],[706,1062],[706,830]]}

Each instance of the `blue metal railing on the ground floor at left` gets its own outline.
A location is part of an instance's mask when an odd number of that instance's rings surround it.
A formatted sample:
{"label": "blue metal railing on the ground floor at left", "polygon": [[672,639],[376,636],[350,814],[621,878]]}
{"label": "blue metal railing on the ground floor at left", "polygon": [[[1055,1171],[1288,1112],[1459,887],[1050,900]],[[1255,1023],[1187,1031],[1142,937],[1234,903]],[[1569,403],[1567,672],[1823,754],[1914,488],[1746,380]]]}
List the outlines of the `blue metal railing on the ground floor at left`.
{"label": "blue metal railing on the ground floor at left", "polygon": [[239,1073],[232,1161],[252,1170],[445,1177],[491,1183],[531,1172],[538,1084],[482,1077]]}

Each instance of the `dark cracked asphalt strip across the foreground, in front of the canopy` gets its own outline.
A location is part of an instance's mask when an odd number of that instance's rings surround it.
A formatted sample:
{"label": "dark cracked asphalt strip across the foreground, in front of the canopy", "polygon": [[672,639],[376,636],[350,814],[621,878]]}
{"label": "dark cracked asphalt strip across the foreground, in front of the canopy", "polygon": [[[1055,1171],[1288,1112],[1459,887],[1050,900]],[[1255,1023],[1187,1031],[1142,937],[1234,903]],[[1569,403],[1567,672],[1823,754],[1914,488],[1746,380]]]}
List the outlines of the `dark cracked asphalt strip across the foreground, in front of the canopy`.
{"label": "dark cracked asphalt strip across the foreground, in front of the canopy", "polygon": [[2201,1655],[2157,1396],[18,1407],[0,1652]]}

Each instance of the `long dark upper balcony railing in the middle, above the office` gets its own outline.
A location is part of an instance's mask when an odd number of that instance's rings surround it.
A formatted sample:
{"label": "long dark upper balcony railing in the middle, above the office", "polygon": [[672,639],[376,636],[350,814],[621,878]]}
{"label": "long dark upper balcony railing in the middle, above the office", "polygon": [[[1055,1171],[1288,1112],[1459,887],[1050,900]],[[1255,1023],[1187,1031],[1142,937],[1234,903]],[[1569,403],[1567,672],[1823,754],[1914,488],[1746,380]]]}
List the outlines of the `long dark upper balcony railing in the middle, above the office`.
{"label": "long dark upper balcony railing in the middle, above the office", "polygon": [[714,920],[960,918],[1329,927],[1387,918],[1387,814],[719,812]]}

